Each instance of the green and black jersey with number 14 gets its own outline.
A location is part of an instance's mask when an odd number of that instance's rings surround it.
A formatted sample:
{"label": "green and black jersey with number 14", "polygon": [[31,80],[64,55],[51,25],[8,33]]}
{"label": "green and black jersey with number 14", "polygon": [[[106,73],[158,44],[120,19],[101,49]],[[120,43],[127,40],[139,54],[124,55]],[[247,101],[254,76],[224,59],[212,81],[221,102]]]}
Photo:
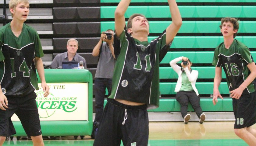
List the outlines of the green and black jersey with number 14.
{"label": "green and black jersey with number 14", "polygon": [[0,28],[0,79],[6,96],[25,96],[38,90],[34,57],[43,57],[39,36],[32,27],[23,24],[16,37],[10,23]]}

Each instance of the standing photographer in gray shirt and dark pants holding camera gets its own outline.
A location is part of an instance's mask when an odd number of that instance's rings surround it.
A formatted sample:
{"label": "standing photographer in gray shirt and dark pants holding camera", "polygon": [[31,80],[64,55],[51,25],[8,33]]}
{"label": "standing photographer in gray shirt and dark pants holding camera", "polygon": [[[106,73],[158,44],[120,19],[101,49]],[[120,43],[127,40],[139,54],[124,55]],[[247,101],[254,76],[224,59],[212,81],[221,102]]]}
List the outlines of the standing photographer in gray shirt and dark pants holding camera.
{"label": "standing photographer in gray shirt and dark pants holding camera", "polygon": [[108,94],[111,93],[112,76],[115,65],[115,54],[113,47],[113,30],[107,30],[101,33],[101,39],[92,51],[93,56],[98,56],[98,66],[94,81],[95,94],[95,119],[91,137],[94,139],[97,133],[98,124],[101,121],[103,113],[103,104],[105,99],[106,88]]}

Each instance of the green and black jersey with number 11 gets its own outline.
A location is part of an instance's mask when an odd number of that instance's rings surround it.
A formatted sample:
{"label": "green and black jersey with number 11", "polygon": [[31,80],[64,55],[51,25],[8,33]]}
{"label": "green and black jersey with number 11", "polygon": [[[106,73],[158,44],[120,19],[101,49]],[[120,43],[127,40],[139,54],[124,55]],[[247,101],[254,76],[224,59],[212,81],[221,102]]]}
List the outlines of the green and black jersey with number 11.
{"label": "green and black jersey with number 11", "polygon": [[134,39],[124,28],[114,36],[116,64],[108,98],[159,106],[159,63],[168,52],[165,31],[151,42]]}

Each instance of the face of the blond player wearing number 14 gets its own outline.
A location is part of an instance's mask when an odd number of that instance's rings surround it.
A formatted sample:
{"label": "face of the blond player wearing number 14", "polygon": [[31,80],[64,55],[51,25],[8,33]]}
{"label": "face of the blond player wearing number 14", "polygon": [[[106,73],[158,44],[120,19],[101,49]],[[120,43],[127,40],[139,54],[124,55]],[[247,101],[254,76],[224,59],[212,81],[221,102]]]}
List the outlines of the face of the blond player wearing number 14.
{"label": "face of the blond player wearing number 14", "polygon": [[10,12],[13,14],[13,18],[25,22],[29,14],[29,3],[25,4],[23,2],[19,3],[13,9],[10,9]]}

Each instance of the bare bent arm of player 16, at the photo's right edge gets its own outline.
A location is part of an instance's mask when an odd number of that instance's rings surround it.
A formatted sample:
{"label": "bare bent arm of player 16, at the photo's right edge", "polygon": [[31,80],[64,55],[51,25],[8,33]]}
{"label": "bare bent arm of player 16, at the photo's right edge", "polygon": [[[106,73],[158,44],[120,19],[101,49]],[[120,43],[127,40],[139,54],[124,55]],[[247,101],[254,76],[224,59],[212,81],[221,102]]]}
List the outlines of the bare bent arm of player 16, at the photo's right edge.
{"label": "bare bent arm of player 16, at the photo's right edge", "polygon": [[248,69],[251,71],[250,75],[246,80],[235,90],[230,91],[229,93],[232,98],[239,99],[244,91],[244,89],[251,84],[251,82],[256,78],[256,65],[254,62],[247,65]]}

